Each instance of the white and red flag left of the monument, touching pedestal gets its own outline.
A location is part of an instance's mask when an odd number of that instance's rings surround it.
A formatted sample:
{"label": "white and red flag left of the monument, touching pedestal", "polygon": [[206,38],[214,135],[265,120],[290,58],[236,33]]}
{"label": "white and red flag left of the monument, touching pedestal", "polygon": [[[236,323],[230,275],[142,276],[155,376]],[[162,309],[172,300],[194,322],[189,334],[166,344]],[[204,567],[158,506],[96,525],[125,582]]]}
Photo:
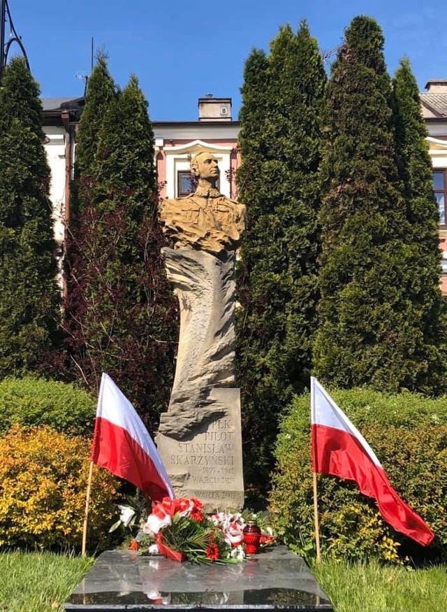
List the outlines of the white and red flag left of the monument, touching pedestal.
{"label": "white and red flag left of the monument, touching pedestal", "polygon": [[175,498],[156,446],[129,399],[103,373],[91,461],[138,487],[145,497]]}

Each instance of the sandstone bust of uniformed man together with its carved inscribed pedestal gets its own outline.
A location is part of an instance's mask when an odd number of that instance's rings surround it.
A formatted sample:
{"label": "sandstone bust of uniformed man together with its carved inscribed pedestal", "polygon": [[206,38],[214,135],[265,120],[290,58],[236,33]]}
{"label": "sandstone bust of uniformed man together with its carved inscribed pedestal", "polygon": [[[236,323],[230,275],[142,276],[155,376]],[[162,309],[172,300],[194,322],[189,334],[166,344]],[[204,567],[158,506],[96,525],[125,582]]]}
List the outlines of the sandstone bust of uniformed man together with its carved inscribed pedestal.
{"label": "sandstone bust of uniformed man together with its carved inscribed pedestal", "polygon": [[240,390],[235,387],[235,251],[246,209],[217,190],[210,152],[191,160],[196,192],[164,199],[159,218],[173,248],[163,248],[179,300],[180,334],[168,411],[157,446],[179,497],[207,511],[244,505]]}

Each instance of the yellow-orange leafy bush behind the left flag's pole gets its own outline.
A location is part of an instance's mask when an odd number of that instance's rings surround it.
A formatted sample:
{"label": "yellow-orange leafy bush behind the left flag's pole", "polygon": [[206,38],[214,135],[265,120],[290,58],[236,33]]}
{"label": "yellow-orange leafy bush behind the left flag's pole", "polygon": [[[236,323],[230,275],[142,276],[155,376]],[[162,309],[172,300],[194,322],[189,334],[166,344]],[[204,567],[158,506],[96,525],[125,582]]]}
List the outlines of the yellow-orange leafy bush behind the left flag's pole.
{"label": "yellow-orange leafy bush behind the left flag's pole", "polygon": [[[0,437],[0,546],[80,548],[90,447],[47,426],[13,425]],[[107,545],[118,484],[94,466],[89,548]]]}

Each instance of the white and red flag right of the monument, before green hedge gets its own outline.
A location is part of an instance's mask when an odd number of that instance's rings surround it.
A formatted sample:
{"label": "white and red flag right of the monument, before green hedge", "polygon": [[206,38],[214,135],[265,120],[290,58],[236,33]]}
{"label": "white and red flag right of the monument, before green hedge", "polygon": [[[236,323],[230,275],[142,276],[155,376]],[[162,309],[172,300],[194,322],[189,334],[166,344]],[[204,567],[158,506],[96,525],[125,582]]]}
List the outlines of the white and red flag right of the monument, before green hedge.
{"label": "white and red flag right of the monument, before green hedge", "polygon": [[428,546],[434,538],[431,529],[400,499],[365,438],[313,377],[311,411],[312,470],[355,481],[363,494],[376,500],[393,529]]}

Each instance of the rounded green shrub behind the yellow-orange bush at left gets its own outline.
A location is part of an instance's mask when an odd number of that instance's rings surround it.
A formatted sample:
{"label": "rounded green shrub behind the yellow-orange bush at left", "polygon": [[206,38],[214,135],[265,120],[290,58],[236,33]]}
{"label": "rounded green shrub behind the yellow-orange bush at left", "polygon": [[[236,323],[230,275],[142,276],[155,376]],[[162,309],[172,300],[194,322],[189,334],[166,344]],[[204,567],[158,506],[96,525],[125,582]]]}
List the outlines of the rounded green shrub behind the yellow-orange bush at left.
{"label": "rounded green shrub behind the yellow-orange bush at left", "polygon": [[96,400],[71,384],[31,377],[0,382],[0,434],[14,423],[91,434],[95,415]]}

